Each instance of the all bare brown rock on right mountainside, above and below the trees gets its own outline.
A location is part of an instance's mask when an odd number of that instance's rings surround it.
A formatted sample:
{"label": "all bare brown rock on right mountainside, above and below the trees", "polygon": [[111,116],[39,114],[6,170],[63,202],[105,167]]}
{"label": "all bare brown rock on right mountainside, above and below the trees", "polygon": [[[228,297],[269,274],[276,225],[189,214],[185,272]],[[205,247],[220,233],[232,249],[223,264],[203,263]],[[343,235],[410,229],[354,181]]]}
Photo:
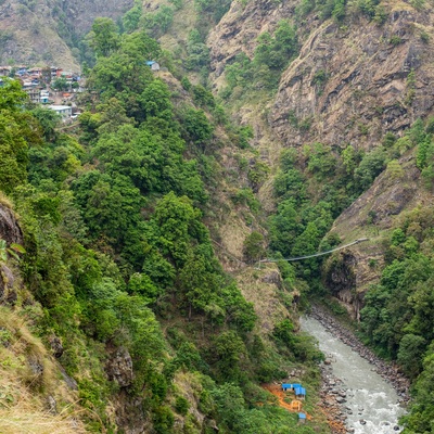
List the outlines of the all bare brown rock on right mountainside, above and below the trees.
{"label": "all bare brown rock on right mountainside, above and below the trees", "polygon": [[[257,37],[272,33],[280,20],[293,20],[296,4],[291,0],[254,0],[245,7],[232,3],[208,37],[215,89],[225,86],[226,65],[240,52],[252,59]],[[370,150],[387,131],[403,136],[418,117],[433,114],[434,9],[426,3],[418,11],[399,0],[382,4],[386,18],[381,25],[356,14],[348,14],[342,24],[321,22],[311,13],[298,26],[299,55],[283,72],[278,92],[266,107],[268,137],[272,138],[268,142],[277,150],[277,143],[301,148],[315,141]],[[238,116],[253,124],[253,143],[263,155],[263,119],[255,122],[245,107]],[[276,162],[267,158],[271,166]],[[327,265],[328,285],[355,317],[365,292],[379,279],[382,238],[403,212],[431,197],[420,187],[412,157],[404,156],[400,164],[405,168],[401,178],[381,175],[332,229],[343,242],[370,237],[369,242],[336,255]]]}

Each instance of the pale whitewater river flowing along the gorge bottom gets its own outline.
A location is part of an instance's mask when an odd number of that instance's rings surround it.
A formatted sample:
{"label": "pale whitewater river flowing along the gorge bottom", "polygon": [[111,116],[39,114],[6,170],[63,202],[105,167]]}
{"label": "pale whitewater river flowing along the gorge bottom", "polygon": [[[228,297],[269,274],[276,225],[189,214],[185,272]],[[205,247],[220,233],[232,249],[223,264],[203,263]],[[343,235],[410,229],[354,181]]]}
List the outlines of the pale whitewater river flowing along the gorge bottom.
{"label": "pale whitewater river flowing along the gorge bottom", "polygon": [[398,404],[395,390],[376,372],[372,365],[348,345],[334,337],[311,317],[301,320],[302,330],[316,337],[319,348],[331,360],[334,376],[346,390],[347,429],[355,434],[399,433],[398,418],[405,409]]}

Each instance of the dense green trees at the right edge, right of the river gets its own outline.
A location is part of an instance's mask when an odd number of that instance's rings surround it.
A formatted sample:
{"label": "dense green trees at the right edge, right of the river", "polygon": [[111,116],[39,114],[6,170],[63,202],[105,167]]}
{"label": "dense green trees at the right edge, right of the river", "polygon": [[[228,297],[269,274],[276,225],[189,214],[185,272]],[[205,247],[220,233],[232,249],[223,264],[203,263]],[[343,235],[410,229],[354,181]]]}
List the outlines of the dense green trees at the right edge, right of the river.
{"label": "dense green trees at the right edge, right of the river", "polygon": [[[424,188],[432,191],[434,142],[432,122],[417,120],[399,141],[414,150]],[[387,166],[390,169],[390,165]],[[403,170],[403,169],[401,169]],[[396,173],[395,169],[392,170]],[[399,170],[398,170],[399,171]],[[374,217],[374,216],[373,216]],[[433,432],[433,218],[420,206],[405,213],[385,245],[385,267],[379,284],[365,297],[361,327],[367,340],[386,358],[395,359],[413,383],[406,433]]]}

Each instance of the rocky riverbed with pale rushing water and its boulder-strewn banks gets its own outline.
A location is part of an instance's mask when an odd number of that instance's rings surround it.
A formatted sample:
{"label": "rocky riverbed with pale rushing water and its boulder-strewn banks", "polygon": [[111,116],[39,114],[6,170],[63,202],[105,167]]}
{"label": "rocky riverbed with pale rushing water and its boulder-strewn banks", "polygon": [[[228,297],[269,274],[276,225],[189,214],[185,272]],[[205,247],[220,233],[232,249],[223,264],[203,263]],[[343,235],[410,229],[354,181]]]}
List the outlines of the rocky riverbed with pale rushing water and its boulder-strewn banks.
{"label": "rocky riverbed with pale rushing water and its boulder-strewn banks", "polygon": [[[306,331],[307,327],[307,332],[320,340],[320,348],[327,355],[321,366],[320,393],[321,407],[332,433],[400,431],[397,420],[403,409],[398,409],[400,406],[397,400],[399,403],[408,400],[407,379],[396,366],[378,358],[354,333],[320,307],[312,308],[310,318],[311,320],[306,319],[307,322],[303,321],[303,329]],[[311,321],[319,322],[318,326],[323,332],[320,332]],[[323,333],[341,342],[341,347],[336,347]],[[358,362],[357,358],[363,360],[363,363]],[[372,372],[372,375],[369,372]],[[381,385],[383,381],[384,385]]]}

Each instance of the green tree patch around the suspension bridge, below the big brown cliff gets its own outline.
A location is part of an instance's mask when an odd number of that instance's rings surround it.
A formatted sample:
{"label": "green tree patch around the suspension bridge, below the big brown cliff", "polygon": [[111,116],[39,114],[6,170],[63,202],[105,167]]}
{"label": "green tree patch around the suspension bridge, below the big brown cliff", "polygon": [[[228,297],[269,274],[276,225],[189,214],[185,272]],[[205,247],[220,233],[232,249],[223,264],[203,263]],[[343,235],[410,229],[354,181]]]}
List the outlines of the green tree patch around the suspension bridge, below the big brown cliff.
{"label": "green tree patch around the suspension bridge, below the big brown cliff", "polygon": [[[269,246],[275,255],[309,255],[339,244],[336,237],[324,239],[333,220],[385,168],[399,178],[404,171],[396,158],[413,143],[410,132],[399,140],[386,135],[382,145],[370,152],[319,142],[301,151],[284,150],[273,183],[278,208],[269,218]],[[296,266],[301,278],[314,279],[311,288],[321,288],[320,264],[320,259],[309,259]]]}

